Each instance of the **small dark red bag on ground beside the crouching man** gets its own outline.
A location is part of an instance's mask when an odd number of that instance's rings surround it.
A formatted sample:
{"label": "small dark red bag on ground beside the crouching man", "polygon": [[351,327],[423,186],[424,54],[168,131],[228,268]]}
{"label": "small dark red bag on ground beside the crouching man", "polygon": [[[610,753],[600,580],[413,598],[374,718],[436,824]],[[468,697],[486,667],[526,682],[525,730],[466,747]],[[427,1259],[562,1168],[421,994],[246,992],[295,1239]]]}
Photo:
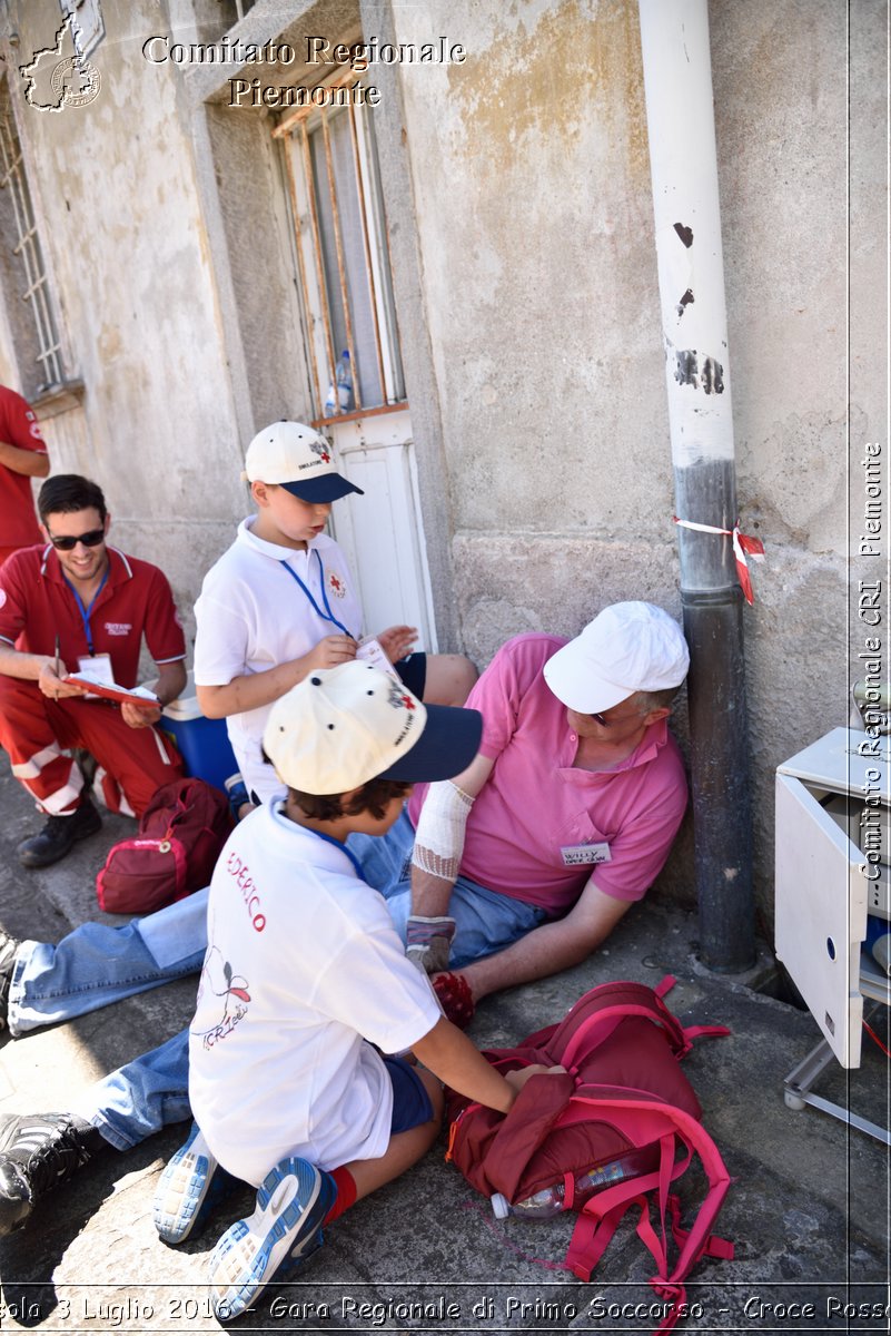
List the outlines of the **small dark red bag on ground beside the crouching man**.
{"label": "small dark red bag on ground beside the crouching man", "polygon": [[203,779],[161,784],[143,812],[139,834],[109,851],[96,876],[108,914],[151,914],[211,880],[232,830],[229,803]]}

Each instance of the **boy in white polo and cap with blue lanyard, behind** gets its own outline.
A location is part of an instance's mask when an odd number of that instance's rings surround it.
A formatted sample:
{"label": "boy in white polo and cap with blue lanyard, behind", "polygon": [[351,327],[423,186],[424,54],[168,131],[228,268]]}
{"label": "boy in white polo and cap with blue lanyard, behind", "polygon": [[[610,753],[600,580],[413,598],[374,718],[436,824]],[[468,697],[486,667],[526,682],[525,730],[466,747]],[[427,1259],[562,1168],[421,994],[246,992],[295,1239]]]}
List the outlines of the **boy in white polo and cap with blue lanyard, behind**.
{"label": "boy in white polo and cap with blue lanyard, behind", "polygon": [[[260,743],[275,700],[313,668],[356,657],[361,608],[343,552],[324,533],[331,505],[351,492],[324,437],[301,422],[273,422],[248,446],[243,477],[257,514],[204,577],[195,605],[195,684],[209,719],[225,717],[245,796],[280,790]],[[413,627],[376,640],[409,691],[462,705],[476,669],[462,655],[409,653]]]}

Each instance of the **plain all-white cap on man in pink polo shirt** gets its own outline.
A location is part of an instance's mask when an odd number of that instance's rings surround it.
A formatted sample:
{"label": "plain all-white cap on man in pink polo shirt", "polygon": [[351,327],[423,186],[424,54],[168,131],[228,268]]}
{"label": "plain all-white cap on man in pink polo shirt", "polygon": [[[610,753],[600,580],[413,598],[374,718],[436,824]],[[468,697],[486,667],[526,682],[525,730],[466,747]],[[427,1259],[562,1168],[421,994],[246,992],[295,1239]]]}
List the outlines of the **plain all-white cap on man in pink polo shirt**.
{"label": "plain all-white cap on man in pink polo shirt", "polygon": [[674,617],[652,603],[614,603],[548,659],[544,680],[570,709],[596,715],[636,691],[680,687],[688,668]]}

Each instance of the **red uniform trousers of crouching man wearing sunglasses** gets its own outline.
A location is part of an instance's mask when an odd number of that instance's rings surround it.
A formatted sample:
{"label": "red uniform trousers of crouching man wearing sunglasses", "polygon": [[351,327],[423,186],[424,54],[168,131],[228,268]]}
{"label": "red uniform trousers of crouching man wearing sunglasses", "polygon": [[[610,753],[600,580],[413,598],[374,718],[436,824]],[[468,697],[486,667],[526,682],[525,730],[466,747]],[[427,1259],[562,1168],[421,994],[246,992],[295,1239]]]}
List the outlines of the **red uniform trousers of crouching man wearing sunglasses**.
{"label": "red uniform trousers of crouching man wearing sunglasses", "polygon": [[12,774],[49,815],[73,811],[84,778],[64,748],[83,747],[99,763],[109,812],[141,816],[161,784],[183,775],[176,747],[157,728],[131,728],[120,708],[67,696],[51,700],[35,681],[0,673],[0,747]]}

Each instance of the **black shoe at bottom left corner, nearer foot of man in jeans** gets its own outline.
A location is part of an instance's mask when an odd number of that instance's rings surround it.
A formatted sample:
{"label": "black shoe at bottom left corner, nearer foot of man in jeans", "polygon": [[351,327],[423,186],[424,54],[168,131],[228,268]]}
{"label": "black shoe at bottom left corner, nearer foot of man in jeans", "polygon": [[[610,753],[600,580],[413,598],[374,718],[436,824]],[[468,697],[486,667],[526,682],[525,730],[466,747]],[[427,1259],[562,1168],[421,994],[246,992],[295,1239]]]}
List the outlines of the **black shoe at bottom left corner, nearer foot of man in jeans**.
{"label": "black shoe at bottom left corner, nearer foot of man in jeans", "polygon": [[0,1234],[19,1229],[51,1188],[105,1145],[101,1133],[75,1114],[0,1118]]}

